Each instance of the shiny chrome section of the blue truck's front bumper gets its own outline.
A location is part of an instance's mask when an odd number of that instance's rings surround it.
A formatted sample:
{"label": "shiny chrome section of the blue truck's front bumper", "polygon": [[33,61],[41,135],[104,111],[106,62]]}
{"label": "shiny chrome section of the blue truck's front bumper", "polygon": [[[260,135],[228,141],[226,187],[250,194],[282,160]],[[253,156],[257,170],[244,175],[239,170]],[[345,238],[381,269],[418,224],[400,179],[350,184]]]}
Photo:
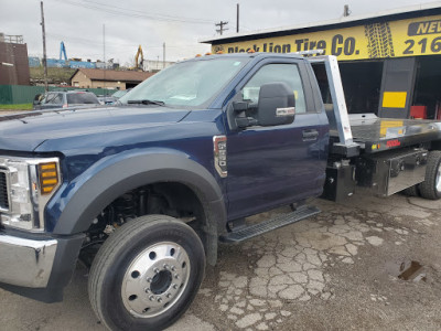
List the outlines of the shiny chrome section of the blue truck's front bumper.
{"label": "shiny chrome section of the blue truck's front bumper", "polygon": [[57,241],[33,241],[0,234],[0,282],[44,288],[55,259]]}

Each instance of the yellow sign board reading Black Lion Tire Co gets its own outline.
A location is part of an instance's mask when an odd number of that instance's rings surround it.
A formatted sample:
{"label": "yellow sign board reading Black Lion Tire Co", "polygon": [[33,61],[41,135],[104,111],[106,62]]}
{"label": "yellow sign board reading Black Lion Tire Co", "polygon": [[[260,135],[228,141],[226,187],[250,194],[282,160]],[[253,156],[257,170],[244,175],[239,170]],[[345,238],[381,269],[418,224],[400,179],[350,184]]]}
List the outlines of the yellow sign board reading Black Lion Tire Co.
{"label": "yellow sign board reading Black Lion Tire Co", "polygon": [[212,52],[324,50],[340,61],[441,54],[441,15],[214,44]]}

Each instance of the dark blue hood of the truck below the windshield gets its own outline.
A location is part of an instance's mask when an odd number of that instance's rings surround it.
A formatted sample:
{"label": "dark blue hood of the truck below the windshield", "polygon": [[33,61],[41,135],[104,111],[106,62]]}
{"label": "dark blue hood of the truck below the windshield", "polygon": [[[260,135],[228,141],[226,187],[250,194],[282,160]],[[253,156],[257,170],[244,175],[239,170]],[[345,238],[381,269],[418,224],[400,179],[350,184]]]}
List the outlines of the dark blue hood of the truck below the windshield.
{"label": "dark blue hood of the truck below the windshield", "polygon": [[142,129],[178,122],[190,110],[130,105],[29,111],[0,117],[0,149],[33,151],[51,139]]}

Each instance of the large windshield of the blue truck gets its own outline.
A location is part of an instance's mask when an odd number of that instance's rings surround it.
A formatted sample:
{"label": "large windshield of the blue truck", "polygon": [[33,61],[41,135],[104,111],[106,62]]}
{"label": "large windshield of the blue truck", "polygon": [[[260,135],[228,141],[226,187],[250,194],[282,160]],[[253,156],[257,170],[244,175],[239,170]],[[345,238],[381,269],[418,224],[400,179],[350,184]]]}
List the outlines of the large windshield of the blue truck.
{"label": "large windshield of the blue truck", "polygon": [[249,58],[215,57],[176,63],[144,81],[119,100],[153,100],[171,106],[202,106],[239,72]]}

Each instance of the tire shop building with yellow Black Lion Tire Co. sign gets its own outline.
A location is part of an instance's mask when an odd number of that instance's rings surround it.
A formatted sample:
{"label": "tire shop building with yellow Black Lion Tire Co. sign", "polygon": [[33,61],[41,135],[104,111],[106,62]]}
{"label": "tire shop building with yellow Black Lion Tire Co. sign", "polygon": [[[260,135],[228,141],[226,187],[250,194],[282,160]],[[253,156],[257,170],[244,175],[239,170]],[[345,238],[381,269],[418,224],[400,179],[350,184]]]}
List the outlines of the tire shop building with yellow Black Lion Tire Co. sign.
{"label": "tire shop building with yellow Black Lion Tire Co. sign", "polygon": [[[203,40],[213,53],[324,50],[338,57],[348,111],[441,119],[440,2]],[[325,74],[314,67],[325,103]]]}

